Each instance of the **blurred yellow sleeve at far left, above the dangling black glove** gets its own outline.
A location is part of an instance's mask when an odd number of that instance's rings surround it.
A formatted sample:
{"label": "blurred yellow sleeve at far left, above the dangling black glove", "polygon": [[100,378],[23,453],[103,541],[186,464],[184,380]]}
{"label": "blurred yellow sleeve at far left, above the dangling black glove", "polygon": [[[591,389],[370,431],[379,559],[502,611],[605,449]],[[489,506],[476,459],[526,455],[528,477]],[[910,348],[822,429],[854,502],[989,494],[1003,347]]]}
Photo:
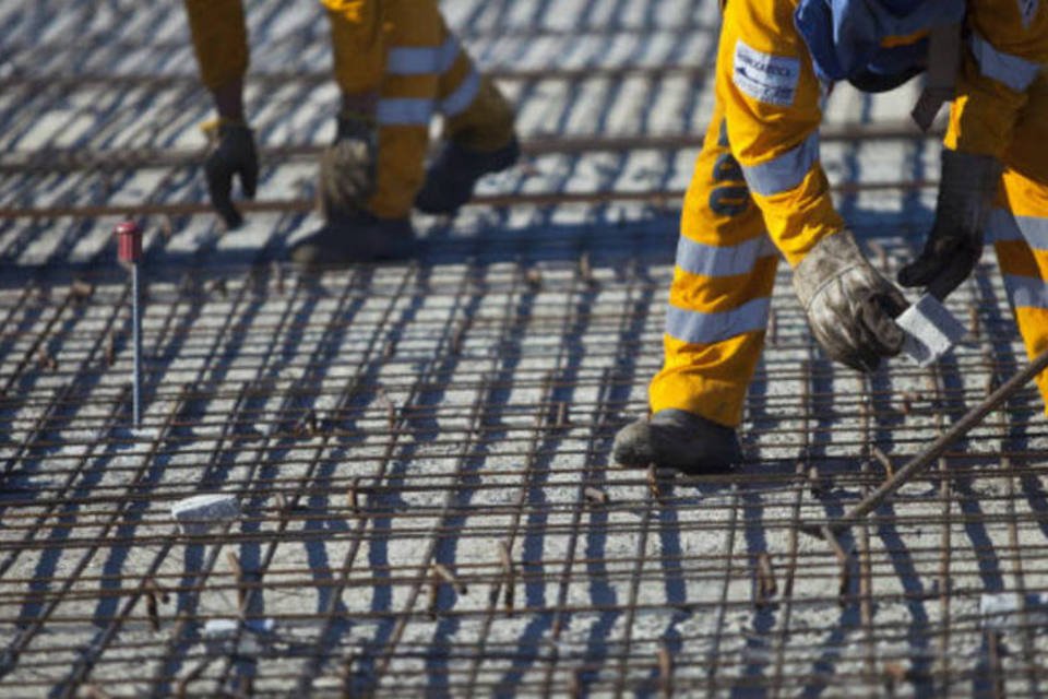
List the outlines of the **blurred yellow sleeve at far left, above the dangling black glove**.
{"label": "blurred yellow sleeve at far left, above the dangling black glove", "polygon": [[248,72],[248,29],[240,0],[184,0],[193,51],[207,90]]}

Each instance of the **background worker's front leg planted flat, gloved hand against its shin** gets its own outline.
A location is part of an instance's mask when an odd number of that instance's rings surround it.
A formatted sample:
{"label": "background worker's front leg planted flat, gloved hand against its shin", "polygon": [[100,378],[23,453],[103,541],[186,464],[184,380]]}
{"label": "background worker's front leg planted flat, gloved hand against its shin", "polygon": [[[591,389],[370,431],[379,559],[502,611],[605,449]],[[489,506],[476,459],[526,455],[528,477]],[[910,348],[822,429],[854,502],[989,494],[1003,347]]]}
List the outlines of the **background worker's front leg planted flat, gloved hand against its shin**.
{"label": "background worker's front leg planted flat, gloved hand against its shin", "polygon": [[414,250],[412,203],[438,92],[440,12],[436,0],[322,2],[343,111],[336,142],[321,158],[327,221],[291,259],[319,266],[405,257]]}

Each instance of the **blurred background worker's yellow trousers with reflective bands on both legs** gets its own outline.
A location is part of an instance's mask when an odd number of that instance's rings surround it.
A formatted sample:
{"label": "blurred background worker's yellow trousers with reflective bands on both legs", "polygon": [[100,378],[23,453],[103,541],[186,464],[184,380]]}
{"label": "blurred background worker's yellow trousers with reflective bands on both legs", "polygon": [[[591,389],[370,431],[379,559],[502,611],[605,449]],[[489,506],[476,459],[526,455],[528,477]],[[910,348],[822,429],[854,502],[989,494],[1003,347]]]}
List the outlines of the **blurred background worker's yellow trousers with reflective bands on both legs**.
{"label": "blurred background worker's yellow trousers with reflective bands on both legs", "polygon": [[477,73],[449,32],[437,0],[321,0],[331,20],[335,80],[346,94],[377,92],[374,215],[408,214],[425,177],[429,123],[445,118],[445,138],[478,151],[513,138],[513,111]]}

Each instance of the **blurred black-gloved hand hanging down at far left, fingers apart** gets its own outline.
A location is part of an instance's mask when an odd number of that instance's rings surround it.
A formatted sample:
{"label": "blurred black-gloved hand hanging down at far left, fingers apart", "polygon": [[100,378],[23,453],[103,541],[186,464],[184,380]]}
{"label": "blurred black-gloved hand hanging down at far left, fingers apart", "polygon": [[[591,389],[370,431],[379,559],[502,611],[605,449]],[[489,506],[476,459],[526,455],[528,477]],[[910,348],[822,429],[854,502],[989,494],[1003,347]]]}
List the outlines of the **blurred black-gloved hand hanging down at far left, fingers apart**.
{"label": "blurred black-gloved hand hanging down at far left, fingers apart", "polygon": [[226,222],[226,226],[236,228],[243,223],[243,217],[233,205],[233,178],[235,175],[240,176],[240,188],[248,199],[254,199],[259,182],[254,133],[246,123],[223,119],[205,125],[204,132],[212,140],[211,152],[204,161],[211,203]]}

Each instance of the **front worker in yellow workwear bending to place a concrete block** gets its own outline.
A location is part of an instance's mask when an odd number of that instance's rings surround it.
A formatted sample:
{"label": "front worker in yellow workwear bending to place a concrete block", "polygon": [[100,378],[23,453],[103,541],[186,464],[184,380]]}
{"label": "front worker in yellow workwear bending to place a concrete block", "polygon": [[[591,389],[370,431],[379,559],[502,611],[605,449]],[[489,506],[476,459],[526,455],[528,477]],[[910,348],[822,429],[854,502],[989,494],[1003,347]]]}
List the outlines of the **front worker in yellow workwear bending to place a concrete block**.
{"label": "front worker in yellow workwear bending to place a concrete block", "polygon": [[[713,119],[683,204],[665,363],[651,417],[616,436],[618,463],[702,474],[740,462],[736,427],[779,256],[831,358],[871,371],[898,353],[893,318],[905,300],[834,211],[819,164],[821,102],[835,81],[873,92],[901,84],[924,69],[929,33],[962,22],[936,221],[898,281],[944,298],[970,274],[987,230],[1028,353],[1048,347],[1048,2],[728,0]],[[1039,387],[1048,399],[1048,376]]]}

